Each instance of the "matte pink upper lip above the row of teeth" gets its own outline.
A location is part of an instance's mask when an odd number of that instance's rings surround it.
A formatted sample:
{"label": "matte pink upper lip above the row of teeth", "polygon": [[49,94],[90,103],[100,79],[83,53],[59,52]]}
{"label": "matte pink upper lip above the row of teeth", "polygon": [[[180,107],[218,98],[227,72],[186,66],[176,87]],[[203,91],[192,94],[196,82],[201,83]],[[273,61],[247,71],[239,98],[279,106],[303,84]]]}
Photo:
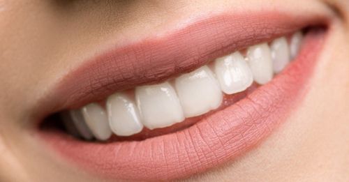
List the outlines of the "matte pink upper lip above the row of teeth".
{"label": "matte pink upper lip above the row of teeth", "polygon": [[[301,20],[299,21],[299,17],[276,12],[254,13],[253,15],[216,15],[191,22],[184,29],[174,31],[168,36],[142,40],[139,43],[108,50],[86,61],[62,77],[54,88],[50,89],[47,96],[39,100],[38,103],[41,106],[45,105],[45,109],[37,109],[39,112],[36,112],[34,118],[41,118],[40,116],[43,116],[43,114],[57,112],[61,109],[75,109],[93,101],[103,100],[121,89],[131,89],[142,84],[164,81],[179,73],[203,66],[211,59],[256,43],[272,40],[277,36],[285,36],[304,28],[304,26],[328,24],[329,17],[311,15],[303,17]],[[244,24],[258,24],[258,26],[230,29],[239,24],[241,26],[242,22]],[[202,29],[205,29],[205,31],[202,31]],[[218,31],[218,33],[230,33],[211,38],[209,35],[214,36],[214,33],[209,32],[212,29]],[[248,33],[246,33],[246,29],[248,29]],[[264,33],[255,31],[255,29],[262,29]],[[200,40],[202,34],[205,34],[204,36],[207,39],[216,41],[215,43],[221,43],[221,47],[212,46],[214,43],[202,46],[205,41],[209,41]],[[253,35],[253,38],[251,35]],[[183,41],[188,40],[189,36],[193,44],[184,48],[181,47],[181,45],[184,45]],[[227,37],[229,39],[225,40]],[[201,47],[196,48],[195,45]],[[169,49],[169,46],[172,50]],[[177,48],[176,50],[173,47],[179,47],[180,49]],[[210,50],[208,51],[209,54],[207,52],[202,54],[198,51],[202,49]],[[147,52],[154,52],[154,50],[159,50],[158,52],[161,52],[161,54],[148,53],[149,55],[147,55]],[[127,53],[126,56],[125,52]],[[179,52],[184,53],[178,55]],[[138,61],[140,55],[147,56],[144,56],[142,61]],[[168,59],[172,56],[176,56],[176,58]],[[125,66],[126,63],[128,66]]]}

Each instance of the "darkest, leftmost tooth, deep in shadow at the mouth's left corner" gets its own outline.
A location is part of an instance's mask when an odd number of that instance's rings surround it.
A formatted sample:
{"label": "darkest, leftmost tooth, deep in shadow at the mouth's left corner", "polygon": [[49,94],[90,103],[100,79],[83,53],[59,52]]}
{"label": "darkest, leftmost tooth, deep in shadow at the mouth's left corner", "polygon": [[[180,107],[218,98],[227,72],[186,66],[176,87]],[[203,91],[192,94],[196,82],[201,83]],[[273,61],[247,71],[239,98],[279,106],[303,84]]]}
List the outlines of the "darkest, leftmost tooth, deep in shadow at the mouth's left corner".
{"label": "darkest, leftmost tooth, deep in shadow at the mouth's left corner", "polygon": [[70,110],[68,112],[64,112],[61,114],[61,116],[64,121],[64,125],[70,134],[74,136],[81,136],[84,139],[94,138],[94,135],[92,135],[91,130],[89,130],[89,127],[85,123],[84,116],[82,116],[80,110]]}

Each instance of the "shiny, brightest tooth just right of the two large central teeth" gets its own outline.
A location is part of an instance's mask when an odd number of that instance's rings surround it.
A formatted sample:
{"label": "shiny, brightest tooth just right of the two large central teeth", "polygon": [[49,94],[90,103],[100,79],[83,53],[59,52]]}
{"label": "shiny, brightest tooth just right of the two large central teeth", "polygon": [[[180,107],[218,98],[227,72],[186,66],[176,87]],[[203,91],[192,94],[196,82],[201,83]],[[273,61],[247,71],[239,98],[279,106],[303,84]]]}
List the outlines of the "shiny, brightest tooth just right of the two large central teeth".
{"label": "shiny, brightest tooth just right of the two large central teeth", "polygon": [[251,69],[240,52],[216,59],[214,68],[224,93],[244,91],[253,82]]}

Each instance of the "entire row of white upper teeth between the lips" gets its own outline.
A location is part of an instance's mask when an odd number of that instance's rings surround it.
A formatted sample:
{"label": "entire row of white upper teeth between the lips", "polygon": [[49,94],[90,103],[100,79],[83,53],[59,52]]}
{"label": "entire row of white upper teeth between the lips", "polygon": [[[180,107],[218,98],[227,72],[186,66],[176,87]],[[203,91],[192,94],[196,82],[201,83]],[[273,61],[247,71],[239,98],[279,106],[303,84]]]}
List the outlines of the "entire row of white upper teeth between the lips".
{"label": "entire row of white upper teeth between the lips", "polygon": [[[181,75],[173,82],[137,86],[135,96],[114,93],[107,98],[106,110],[91,103],[64,114],[70,132],[85,139],[106,140],[112,132],[130,136],[142,131],[143,126],[154,129],[171,126],[187,117],[199,116],[219,107],[223,93],[244,91],[253,80],[269,82],[294,59],[302,43],[302,33],[292,35],[290,45],[285,37],[270,45],[262,43],[248,47],[246,57],[234,52],[214,61],[213,66],[202,66]],[[213,70],[213,71],[212,71]],[[223,91],[223,93],[222,93]]]}

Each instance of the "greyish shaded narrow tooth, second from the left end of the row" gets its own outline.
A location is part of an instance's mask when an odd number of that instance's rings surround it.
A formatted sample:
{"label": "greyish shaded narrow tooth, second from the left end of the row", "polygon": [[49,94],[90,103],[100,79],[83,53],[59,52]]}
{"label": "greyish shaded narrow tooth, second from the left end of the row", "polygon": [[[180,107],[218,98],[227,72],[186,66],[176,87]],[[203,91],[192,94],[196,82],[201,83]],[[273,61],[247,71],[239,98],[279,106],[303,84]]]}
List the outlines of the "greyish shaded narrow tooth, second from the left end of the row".
{"label": "greyish shaded narrow tooth, second from the left end of the row", "polygon": [[107,121],[107,114],[100,105],[95,103],[86,105],[82,107],[82,114],[87,126],[89,126],[89,129],[96,139],[109,139],[110,135],[112,135],[112,131]]}

